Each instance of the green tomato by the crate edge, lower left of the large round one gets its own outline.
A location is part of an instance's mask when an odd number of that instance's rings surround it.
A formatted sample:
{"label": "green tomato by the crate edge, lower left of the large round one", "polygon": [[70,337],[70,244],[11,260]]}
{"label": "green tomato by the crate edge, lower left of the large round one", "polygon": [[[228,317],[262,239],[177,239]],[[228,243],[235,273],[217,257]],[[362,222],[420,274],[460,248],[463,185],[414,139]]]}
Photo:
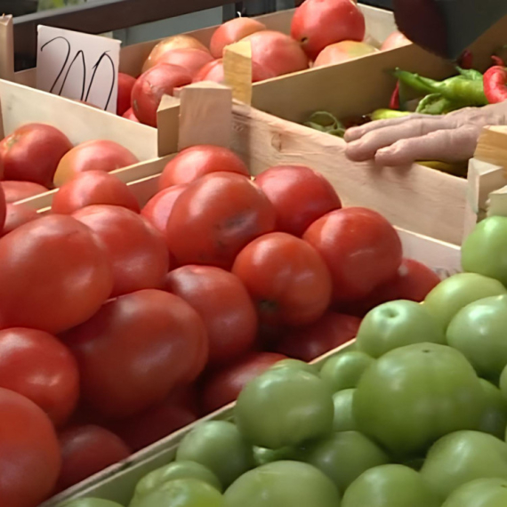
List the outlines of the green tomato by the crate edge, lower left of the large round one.
{"label": "green tomato by the crate edge, lower left of the large round one", "polygon": [[254,467],[254,455],[232,422],[208,421],[186,435],[176,451],[176,461],[200,463],[212,471],[224,487]]}

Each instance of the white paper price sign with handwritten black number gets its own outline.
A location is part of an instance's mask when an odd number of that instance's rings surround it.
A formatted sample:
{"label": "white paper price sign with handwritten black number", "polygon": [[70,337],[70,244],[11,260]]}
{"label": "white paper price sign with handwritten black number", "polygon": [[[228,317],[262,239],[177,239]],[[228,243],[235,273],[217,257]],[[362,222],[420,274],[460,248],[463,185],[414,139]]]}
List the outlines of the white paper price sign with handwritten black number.
{"label": "white paper price sign with handwritten black number", "polygon": [[117,112],[121,42],[38,27],[37,88]]}

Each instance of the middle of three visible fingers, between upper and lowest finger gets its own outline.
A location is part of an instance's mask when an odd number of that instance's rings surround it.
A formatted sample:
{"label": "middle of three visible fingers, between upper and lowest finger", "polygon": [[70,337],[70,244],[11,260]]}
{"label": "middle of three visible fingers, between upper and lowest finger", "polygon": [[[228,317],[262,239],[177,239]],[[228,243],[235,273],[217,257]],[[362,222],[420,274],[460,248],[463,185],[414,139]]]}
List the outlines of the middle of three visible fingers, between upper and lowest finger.
{"label": "middle of three visible fingers, between upper and lowest finger", "polygon": [[350,160],[363,162],[374,158],[378,149],[388,147],[400,139],[421,137],[433,131],[454,127],[454,123],[447,121],[446,117],[431,117],[431,120],[426,117],[414,119],[405,124],[392,125],[389,128],[366,133],[358,141],[350,142],[345,149],[345,154]]}

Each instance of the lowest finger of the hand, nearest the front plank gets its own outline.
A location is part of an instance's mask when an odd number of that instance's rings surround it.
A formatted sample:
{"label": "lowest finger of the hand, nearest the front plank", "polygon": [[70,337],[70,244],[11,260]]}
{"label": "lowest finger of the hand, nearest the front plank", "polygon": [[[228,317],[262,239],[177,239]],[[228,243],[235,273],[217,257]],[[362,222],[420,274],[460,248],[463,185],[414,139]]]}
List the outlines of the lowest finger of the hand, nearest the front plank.
{"label": "lowest finger of the hand, nearest the front plank", "polygon": [[416,160],[461,162],[473,157],[481,129],[463,125],[452,130],[440,130],[422,137],[403,139],[388,148],[379,149],[375,162],[379,165],[407,165]]}

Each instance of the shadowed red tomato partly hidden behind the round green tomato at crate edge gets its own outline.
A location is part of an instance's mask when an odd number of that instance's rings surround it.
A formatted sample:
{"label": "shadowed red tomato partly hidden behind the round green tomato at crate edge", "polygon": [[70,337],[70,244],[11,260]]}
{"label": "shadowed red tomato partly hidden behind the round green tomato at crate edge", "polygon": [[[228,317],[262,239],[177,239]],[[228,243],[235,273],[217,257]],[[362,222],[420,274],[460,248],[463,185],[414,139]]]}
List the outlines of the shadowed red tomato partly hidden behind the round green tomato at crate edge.
{"label": "shadowed red tomato partly hidden behind the round green tomato at crate edge", "polygon": [[213,412],[234,401],[248,382],[282,359],[286,359],[286,356],[271,352],[254,352],[207,375],[203,381],[201,398],[205,413]]}

